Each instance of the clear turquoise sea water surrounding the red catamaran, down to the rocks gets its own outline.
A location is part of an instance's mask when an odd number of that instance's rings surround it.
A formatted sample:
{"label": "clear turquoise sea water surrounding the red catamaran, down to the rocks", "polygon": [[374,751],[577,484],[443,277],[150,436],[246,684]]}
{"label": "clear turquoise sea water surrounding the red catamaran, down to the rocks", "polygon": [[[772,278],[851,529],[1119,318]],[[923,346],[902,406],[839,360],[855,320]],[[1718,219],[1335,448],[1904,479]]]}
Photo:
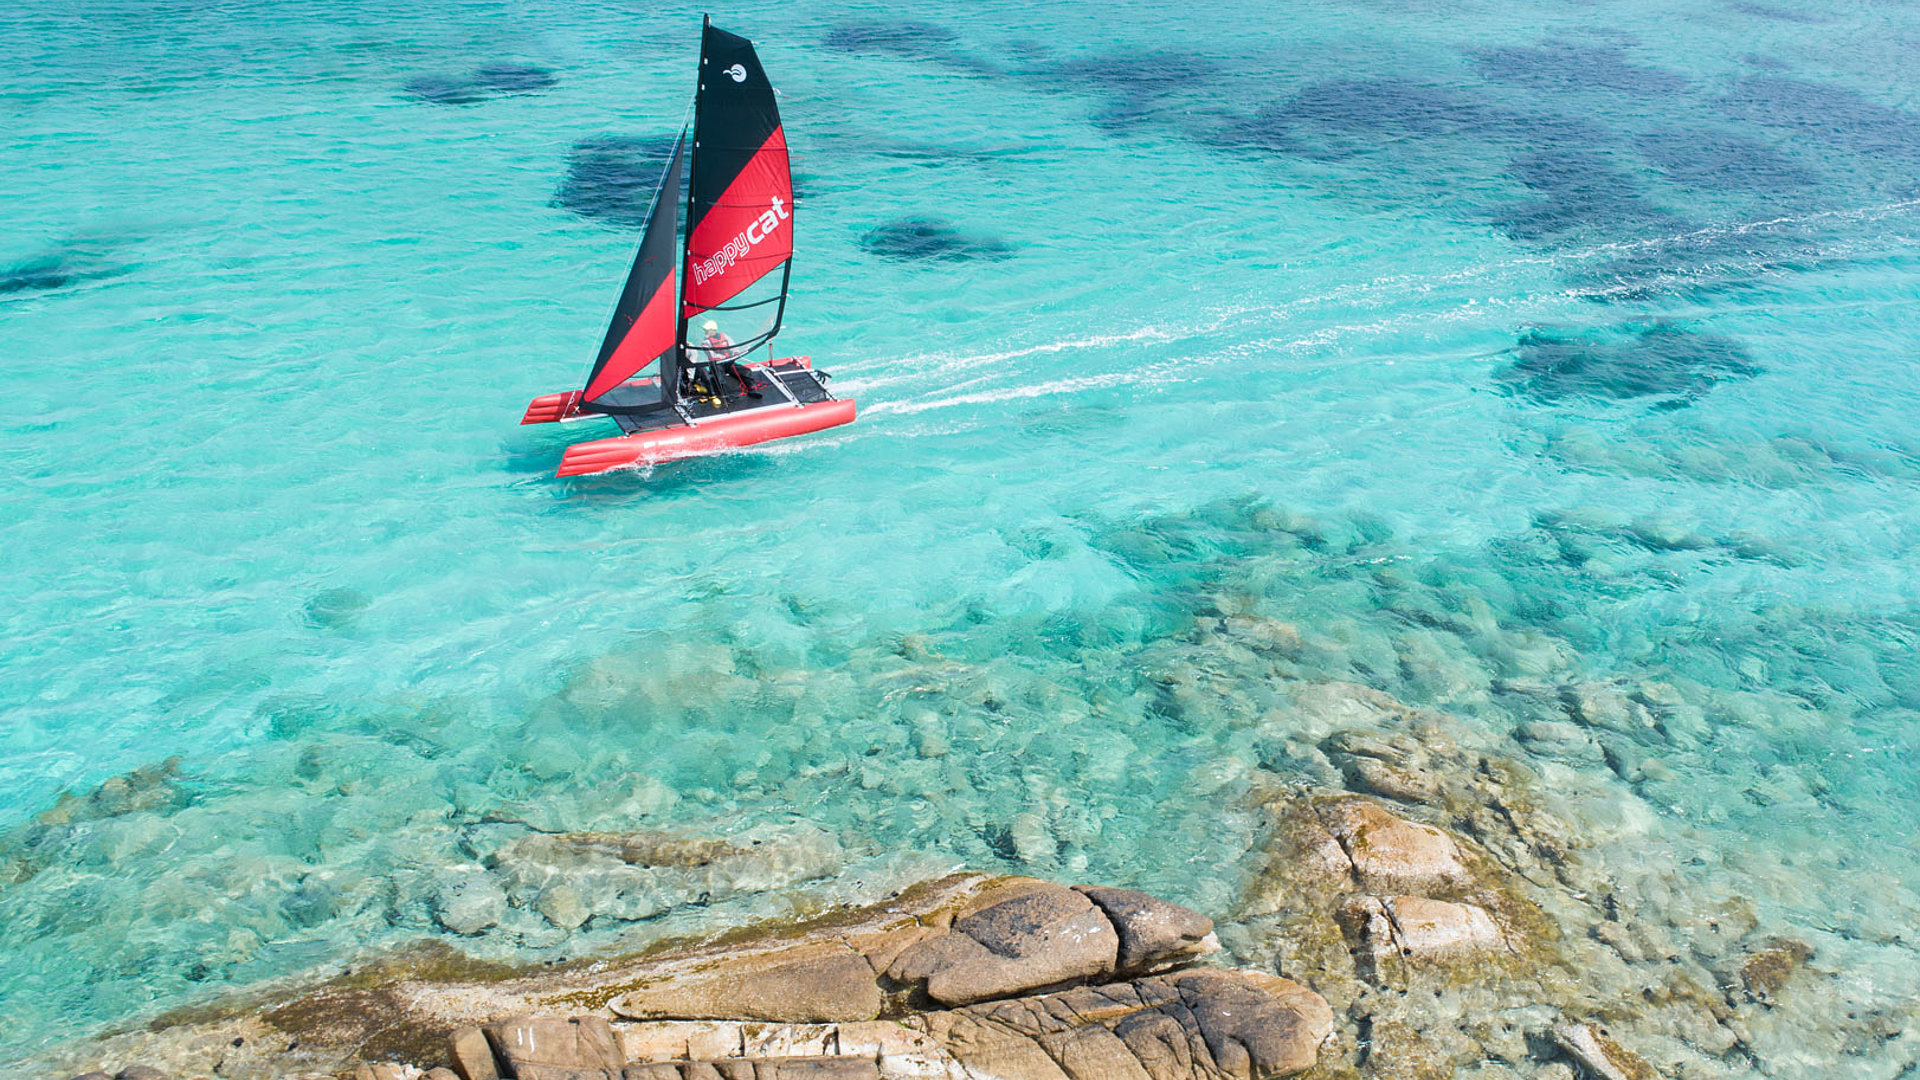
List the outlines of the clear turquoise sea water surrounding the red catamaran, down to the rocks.
{"label": "clear turquoise sea water surrounding the red catamaran, down to the rocks", "polygon": [[714,15],[795,148],[781,342],[862,419],[559,482],[588,432],[515,421],[586,371],[595,154],[678,131],[697,12],[0,13],[0,1057],[442,934],[501,821],[1219,911],[1271,694],[1156,678],[1233,676],[1223,611],[1494,732],[1498,678],[1718,701],[1640,794],[1786,853],[1736,872],[1778,919],[1910,942],[1912,10]]}

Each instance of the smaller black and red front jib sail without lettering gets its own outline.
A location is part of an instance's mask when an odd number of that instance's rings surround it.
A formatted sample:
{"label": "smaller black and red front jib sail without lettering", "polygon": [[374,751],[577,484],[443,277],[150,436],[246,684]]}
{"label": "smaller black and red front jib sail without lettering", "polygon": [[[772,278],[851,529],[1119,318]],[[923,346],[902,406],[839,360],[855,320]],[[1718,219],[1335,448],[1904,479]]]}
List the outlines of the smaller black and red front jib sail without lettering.
{"label": "smaller black and red front jib sail without lettering", "polygon": [[[674,404],[680,377],[680,321],[674,288],[674,256],[680,233],[680,175],[685,160],[685,133],[674,144],[674,158],[653,192],[639,254],[626,275],[612,325],[580,394],[580,411],[632,415]],[[634,379],[659,363],[645,379]]]}

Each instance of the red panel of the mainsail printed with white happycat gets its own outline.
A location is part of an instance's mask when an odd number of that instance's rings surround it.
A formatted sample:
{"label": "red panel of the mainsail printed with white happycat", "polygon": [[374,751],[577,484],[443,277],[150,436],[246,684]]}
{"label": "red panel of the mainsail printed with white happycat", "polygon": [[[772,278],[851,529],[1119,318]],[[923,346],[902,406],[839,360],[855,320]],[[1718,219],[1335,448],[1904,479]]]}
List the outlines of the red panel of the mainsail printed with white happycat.
{"label": "red panel of the mainsail printed with white happycat", "polygon": [[793,258],[793,173],[776,127],[687,234],[687,315],[718,307]]}

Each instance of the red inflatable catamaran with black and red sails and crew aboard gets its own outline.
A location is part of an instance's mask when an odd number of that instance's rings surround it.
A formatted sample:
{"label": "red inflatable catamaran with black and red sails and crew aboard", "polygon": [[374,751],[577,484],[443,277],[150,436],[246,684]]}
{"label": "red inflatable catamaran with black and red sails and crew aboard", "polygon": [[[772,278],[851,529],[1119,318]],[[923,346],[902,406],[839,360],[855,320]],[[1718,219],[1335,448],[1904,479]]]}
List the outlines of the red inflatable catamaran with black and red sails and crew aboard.
{"label": "red inflatable catamaran with black and red sails and crew aboard", "polygon": [[[607,417],[561,477],[674,461],[852,423],[808,357],[774,359],[793,271],[793,175],[774,88],[753,42],[703,25],[691,146],[680,133],[639,254],[580,390],[534,398],[522,425]],[[687,188],[678,248],[680,188]],[[674,263],[684,267],[674,273]],[[730,334],[732,331],[732,334]],[[753,352],[766,348],[762,359]]]}

